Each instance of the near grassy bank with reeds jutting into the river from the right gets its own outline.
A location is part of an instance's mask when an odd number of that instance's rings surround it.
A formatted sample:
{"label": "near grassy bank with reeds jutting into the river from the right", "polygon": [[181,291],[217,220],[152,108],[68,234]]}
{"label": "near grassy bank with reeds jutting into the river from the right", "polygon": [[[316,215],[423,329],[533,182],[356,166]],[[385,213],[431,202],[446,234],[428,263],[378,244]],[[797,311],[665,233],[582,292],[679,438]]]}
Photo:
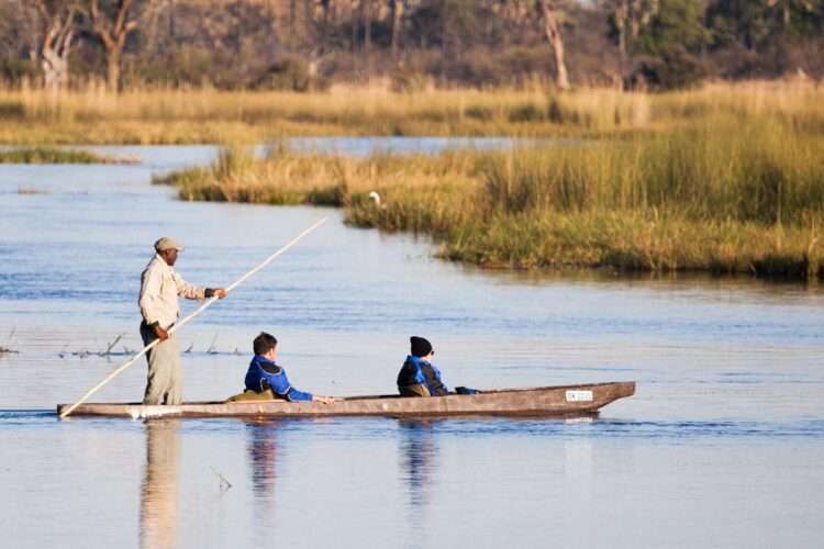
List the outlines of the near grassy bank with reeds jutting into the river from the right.
{"label": "near grassy bank with reeds jutting into the river from the right", "polygon": [[489,267],[817,279],[824,132],[800,122],[717,112],[649,135],[437,156],[230,149],[169,182],[186,200],[342,205],[353,224],[428,234],[443,257]]}

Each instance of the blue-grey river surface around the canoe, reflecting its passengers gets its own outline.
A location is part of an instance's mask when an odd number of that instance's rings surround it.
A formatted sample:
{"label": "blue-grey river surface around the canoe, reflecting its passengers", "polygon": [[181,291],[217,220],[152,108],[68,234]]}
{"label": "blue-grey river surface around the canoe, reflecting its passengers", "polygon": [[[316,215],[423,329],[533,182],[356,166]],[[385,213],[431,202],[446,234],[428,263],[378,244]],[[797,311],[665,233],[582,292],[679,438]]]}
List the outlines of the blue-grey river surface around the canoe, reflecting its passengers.
{"label": "blue-grey river surface around the canoe, reflecting its passengers", "polygon": [[[149,184],[213,147],[105,150],[143,164],[0,166],[3,546],[821,547],[817,287],[483,271],[337,210]],[[181,329],[186,400],[240,391],[261,329],[321,394],[391,392],[422,335],[450,385],[635,380],[636,395],[589,422],[57,419],[141,347],[156,238],[187,246],[189,281],[227,285],[323,216]],[[141,360],[92,400],[137,401],[145,374]]]}

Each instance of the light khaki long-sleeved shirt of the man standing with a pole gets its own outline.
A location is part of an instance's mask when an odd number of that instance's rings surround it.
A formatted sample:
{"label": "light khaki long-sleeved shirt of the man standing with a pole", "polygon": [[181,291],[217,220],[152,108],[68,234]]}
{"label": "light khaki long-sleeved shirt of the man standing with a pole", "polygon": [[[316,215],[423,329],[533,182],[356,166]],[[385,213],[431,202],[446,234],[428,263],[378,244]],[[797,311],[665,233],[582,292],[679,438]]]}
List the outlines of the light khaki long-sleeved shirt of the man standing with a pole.
{"label": "light khaki long-sleeved shirt of the man standing with a pole", "polygon": [[141,274],[141,314],[146,324],[158,323],[168,329],[180,316],[177,296],[190,300],[205,298],[205,289],[192,285],[178,274],[166,261],[155,255]]}

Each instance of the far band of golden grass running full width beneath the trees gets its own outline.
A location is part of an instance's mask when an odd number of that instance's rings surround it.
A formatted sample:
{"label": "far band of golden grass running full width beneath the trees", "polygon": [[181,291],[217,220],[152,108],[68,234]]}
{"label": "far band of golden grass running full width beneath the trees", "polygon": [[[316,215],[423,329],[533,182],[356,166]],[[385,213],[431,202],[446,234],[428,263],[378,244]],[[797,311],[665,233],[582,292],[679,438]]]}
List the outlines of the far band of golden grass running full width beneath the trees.
{"label": "far band of golden grass running full width beneath the trees", "polygon": [[0,91],[0,144],[258,144],[286,136],[506,135],[604,137],[669,131],[719,113],[824,127],[824,90],[749,82],[649,94],[581,89],[324,92]]}

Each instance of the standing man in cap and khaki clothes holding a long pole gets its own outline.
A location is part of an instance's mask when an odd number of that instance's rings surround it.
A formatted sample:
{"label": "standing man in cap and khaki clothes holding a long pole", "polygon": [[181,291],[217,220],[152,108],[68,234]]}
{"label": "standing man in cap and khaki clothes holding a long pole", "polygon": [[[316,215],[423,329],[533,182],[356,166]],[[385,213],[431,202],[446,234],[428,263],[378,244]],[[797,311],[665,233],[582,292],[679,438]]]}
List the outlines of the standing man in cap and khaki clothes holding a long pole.
{"label": "standing man in cap and khaki clothes holding a long pole", "polygon": [[188,283],[175,269],[178,253],[183,248],[171,238],[155,243],[155,257],[141,276],[141,337],[148,345],[160,339],[146,355],[148,380],[144,404],[180,404],[182,401],[182,369],[177,338],[168,330],[180,317],[177,296],[190,300],[225,298],[223,288],[200,288]]}

